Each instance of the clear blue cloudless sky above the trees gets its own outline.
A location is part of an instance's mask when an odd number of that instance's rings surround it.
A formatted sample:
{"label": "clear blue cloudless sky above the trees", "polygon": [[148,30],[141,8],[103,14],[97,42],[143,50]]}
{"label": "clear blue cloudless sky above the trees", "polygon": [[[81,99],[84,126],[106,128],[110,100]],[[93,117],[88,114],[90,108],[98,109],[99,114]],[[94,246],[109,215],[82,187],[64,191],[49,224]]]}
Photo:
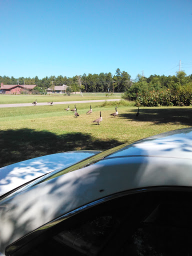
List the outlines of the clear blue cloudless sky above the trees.
{"label": "clear blue cloudless sky above the trees", "polygon": [[192,73],[191,0],[0,0],[0,75]]}

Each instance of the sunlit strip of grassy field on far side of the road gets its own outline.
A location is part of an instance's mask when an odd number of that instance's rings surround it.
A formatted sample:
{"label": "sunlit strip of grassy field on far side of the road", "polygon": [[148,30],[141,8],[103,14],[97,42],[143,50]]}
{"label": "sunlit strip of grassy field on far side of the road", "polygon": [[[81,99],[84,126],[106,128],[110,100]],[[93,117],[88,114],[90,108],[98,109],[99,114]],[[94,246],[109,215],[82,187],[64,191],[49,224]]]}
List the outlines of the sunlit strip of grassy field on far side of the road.
{"label": "sunlit strip of grassy field on far side of the road", "polygon": [[70,96],[62,94],[51,94],[51,95],[4,95],[0,94],[0,104],[14,104],[14,103],[32,103],[35,99],[37,102],[61,102],[61,101],[79,101],[79,100],[93,100],[93,99],[111,99],[111,98],[120,98],[121,93],[114,93],[113,95],[105,93],[96,92],[96,93],[82,93],[80,94],[71,94]]}

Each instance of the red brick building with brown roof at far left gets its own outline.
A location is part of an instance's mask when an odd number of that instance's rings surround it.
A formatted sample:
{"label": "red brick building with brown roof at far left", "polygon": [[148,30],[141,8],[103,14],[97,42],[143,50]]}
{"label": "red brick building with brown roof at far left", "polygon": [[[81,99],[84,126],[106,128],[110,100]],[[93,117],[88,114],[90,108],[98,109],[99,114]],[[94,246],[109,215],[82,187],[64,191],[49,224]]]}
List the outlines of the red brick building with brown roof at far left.
{"label": "red brick building with brown roof at far left", "polygon": [[1,82],[0,89],[5,91],[5,94],[20,94],[21,91],[26,91],[31,93],[32,89],[36,86],[36,84],[32,85],[20,85],[20,84],[3,84]]}

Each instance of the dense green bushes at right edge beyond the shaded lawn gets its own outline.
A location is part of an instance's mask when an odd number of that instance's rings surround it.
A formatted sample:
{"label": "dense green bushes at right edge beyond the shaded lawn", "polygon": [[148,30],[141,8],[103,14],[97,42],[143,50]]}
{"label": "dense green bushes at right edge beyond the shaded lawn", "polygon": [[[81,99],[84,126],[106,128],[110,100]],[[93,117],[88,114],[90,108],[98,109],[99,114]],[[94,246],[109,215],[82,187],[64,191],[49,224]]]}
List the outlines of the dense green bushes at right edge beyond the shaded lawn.
{"label": "dense green bushes at right edge beyond the shaded lawn", "polygon": [[176,75],[137,75],[134,83],[122,95],[135,100],[137,106],[188,106],[192,105],[192,74],[184,71]]}

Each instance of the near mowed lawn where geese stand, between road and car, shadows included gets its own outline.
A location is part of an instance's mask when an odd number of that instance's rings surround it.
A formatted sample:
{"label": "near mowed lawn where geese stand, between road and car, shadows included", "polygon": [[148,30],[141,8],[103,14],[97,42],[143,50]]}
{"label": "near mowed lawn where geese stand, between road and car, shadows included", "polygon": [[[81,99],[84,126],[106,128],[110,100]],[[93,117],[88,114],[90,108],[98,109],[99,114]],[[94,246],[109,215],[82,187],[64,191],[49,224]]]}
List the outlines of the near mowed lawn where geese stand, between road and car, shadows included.
{"label": "near mowed lawn where geese stand, between road and car, shadows included", "polygon": [[[137,107],[116,102],[118,116],[110,113],[115,105],[78,103],[74,112],[67,105],[8,107],[0,109],[0,167],[17,161],[57,152],[105,150],[147,136],[191,126],[192,107]],[[92,121],[99,117],[99,125]]]}

